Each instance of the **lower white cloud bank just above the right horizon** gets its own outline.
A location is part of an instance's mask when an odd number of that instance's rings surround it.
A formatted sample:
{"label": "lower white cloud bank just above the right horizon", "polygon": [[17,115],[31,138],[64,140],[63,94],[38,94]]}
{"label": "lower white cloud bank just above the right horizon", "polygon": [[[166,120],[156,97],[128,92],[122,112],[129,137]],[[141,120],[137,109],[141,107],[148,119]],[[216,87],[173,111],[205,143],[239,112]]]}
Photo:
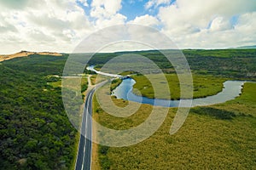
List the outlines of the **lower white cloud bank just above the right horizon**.
{"label": "lower white cloud bank just above the right horizon", "polygon": [[169,36],[172,37],[172,40],[177,43],[179,48],[232,48],[255,45],[255,17],[256,12],[241,14],[236,26],[232,28],[229,28],[229,23],[226,24],[226,20],[221,20],[220,26],[216,26],[218,29],[210,27],[209,29],[202,29],[182,36],[172,34],[169,34]]}

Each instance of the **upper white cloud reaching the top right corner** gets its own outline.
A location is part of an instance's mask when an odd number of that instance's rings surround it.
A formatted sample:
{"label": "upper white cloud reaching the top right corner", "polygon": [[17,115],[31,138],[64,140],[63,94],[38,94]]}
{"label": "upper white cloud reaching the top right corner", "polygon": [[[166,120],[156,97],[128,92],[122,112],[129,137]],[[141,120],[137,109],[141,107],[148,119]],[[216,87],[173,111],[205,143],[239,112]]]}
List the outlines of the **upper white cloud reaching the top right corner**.
{"label": "upper white cloud reaching the top right corner", "polygon": [[159,17],[167,30],[177,31],[177,28],[189,25],[206,28],[216,17],[231,17],[255,10],[253,0],[177,0],[176,4],[161,7]]}

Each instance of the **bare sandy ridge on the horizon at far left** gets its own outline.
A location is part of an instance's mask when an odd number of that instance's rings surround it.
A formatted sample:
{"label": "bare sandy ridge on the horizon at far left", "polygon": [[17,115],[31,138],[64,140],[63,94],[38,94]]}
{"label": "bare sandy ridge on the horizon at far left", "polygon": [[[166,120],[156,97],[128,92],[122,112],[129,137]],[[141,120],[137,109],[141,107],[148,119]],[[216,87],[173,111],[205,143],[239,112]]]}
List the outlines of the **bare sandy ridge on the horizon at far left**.
{"label": "bare sandy ridge on the horizon at far left", "polygon": [[0,62],[8,59],[15,59],[19,57],[27,57],[28,55],[32,54],[38,54],[38,55],[52,55],[52,56],[62,56],[62,54],[59,53],[53,53],[53,52],[30,52],[30,51],[20,51],[16,54],[8,54],[8,55],[2,55],[0,54]]}

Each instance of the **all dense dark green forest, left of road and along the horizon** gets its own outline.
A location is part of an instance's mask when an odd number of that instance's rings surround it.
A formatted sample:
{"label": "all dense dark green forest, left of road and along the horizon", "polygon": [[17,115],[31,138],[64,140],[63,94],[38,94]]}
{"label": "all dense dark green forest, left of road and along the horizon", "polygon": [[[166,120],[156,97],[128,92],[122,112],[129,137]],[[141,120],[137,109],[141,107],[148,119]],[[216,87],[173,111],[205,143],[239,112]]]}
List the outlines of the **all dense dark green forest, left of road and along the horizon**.
{"label": "all dense dark green forest, left of road and along the horizon", "polygon": [[[192,71],[238,79],[256,78],[256,50],[184,50]],[[119,54],[95,54],[88,65],[101,67]],[[142,54],[173,71],[157,51]],[[84,54],[78,54],[78,61]],[[0,169],[69,169],[76,154],[76,129],[67,118],[60,81],[68,54],[30,55],[0,63]],[[74,56],[75,57],[75,56]],[[88,73],[87,71],[84,71]],[[84,90],[84,89],[83,89]]]}

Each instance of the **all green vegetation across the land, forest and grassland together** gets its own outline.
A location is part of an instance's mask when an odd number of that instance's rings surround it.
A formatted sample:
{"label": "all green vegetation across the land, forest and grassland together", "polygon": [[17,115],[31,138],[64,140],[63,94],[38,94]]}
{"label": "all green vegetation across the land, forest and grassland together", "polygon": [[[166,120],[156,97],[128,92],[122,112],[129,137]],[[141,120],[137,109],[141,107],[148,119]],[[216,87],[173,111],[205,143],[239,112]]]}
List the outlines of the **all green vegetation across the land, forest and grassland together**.
{"label": "all green vegetation across the land, forest and grassland together", "polygon": [[[179,98],[175,70],[158,51],[96,54],[88,65],[99,69],[119,54],[141,54],[153,60],[166,73],[172,99]],[[256,80],[256,49],[183,50],[183,54],[195,78],[195,98],[218,93],[226,79]],[[0,63],[0,169],[73,168],[79,135],[69,122],[61,99],[60,77],[67,57],[68,54],[62,57],[33,54]],[[83,64],[86,54],[73,57],[78,62],[73,63],[75,67],[79,62]],[[84,73],[93,74],[86,70]],[[128,73],[132,72],[124,74]],[[144,77],[135,79],[142,83],[135,88],[154,97],[149,94],[152,89]],[[114,81],[112,88],[118,84],[119,81]],[[70,93],[72,87],[67,86]],[[81,88],[82,92],[87,88],[85,79]],[[142,143],[123,148],[99,146],[102,169],[255,169],[255,88],[255,84],[246,83],[237,99],[193,108],[175,135],[169,135],[176,111],[171,108],[160,129]],[[129,103],[122,99],[113,101],[121,107]],[[74,113],[81,109],[67,106]],[[96,120],[113,129],[136,127],[151,111],[152,106],[142,105],[132,116],[117,118],[94,102]],[[69,118],[79,122],[75,117]]]}

